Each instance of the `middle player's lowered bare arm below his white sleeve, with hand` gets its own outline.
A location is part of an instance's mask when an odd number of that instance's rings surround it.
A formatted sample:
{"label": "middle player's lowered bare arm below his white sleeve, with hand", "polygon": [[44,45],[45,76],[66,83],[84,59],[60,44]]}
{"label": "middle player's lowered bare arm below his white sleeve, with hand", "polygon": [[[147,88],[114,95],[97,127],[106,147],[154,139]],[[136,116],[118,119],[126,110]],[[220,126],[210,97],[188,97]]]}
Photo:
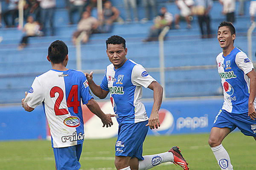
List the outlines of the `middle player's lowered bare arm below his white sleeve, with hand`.
{"label": "middle player's lowered bare arm below his white sleeve, with hand", "polygon": [[150,129],[154,129],[154,127],[160,127],[158,111],[162,104],[163,87],[158,82],[151,82],[148,88],[154,91],[154,103],[147,126],[149,126]]}

